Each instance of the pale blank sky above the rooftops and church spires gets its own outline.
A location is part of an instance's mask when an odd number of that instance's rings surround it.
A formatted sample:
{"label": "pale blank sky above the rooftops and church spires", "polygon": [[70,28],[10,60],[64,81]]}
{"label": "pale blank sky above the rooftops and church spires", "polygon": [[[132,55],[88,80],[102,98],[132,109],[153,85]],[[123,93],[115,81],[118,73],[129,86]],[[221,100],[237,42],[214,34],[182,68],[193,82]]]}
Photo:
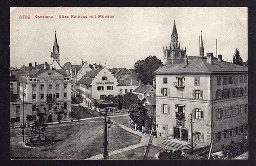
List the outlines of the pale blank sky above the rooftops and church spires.
{"label": "pale blank sky above the rooftops and church spires", "polygon": [[[180,46],[188,56],[199,56],[203,32],[204,53],[232,61],[236,48],[247,60],[247,8],[11,8],[11,67],[50,61],[56,31],[60,65],[105,63],[106,67],[132,68],[149,55],[163,61],[176,20]],[[71,18],[71,15],[115,15],[114,18]],[[19,19],[30,15],[30,19]],[[35,18],[52,15],[52,19]],[[58,18],[66,15],[69,18]]]}

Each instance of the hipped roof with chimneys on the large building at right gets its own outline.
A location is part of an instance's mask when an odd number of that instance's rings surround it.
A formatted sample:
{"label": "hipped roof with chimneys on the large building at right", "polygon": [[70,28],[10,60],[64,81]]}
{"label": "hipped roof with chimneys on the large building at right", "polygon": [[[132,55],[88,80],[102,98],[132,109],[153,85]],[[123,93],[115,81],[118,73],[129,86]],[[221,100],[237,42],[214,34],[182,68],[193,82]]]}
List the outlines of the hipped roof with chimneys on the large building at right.
{"label": "hipped roof with chimneys on the large building at right", "polygon": [[248,72],[248,68],[226,61],[212,59],[212,64],[207,63],[206,57],[188,57],[188,64],[184,60],[173,66],[163,66],[156,70],[156,74],[212,74],[212,73],[234,73]]}

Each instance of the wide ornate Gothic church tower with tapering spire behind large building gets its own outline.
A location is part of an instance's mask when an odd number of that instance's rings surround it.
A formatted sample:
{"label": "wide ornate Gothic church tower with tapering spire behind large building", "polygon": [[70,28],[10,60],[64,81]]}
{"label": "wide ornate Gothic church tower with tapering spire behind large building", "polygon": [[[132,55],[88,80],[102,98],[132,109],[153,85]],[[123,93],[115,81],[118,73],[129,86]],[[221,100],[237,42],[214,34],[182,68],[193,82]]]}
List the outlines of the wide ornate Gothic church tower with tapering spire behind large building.
{"label": "wide ornate Gothic church tower with tapering spire behind large building", "polygon": [[186,48],[183,50],[183,48],[180,49],[180,42],[179,42],[179,36],[176,29],[176,24],[174,20],[174,28],[173,33],[170,37],[171,42],[169,43],[169,48],[163,47],[163,54],[164,54],[164,64],[171,66],[177,63],[183,63],[184,58],[186,56]]}

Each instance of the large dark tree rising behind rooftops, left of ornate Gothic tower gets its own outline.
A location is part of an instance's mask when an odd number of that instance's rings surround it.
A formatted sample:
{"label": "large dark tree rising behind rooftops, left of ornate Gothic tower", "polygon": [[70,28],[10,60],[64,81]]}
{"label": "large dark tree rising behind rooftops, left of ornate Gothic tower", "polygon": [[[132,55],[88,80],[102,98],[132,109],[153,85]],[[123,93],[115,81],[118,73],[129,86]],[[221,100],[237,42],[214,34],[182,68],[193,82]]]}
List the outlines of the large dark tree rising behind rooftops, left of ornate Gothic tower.
{"label": "large dark tree rising behind rooftops, left of ornate Gothic tower", "polygon": [[138,60],[134,64],[134,72],[138,73],[138,80],[143,84],[150,83],[153,85],[155,77],[154,72],[159,67],[163,66],[162,61],[156,56],[148,56],[145,60]]}

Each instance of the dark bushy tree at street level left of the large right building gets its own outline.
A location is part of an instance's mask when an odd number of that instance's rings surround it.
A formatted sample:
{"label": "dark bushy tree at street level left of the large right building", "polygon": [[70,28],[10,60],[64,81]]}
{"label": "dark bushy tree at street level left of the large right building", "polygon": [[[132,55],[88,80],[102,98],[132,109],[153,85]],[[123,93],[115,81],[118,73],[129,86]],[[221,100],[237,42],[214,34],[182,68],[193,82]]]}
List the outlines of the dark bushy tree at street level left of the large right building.
{"label": "dark bushy tree at street level left of the large right building", "polygon": [[145,121],[147,117],[147,109],[143,106],[141,101],[136,101],[135,104],[131,105],[129,108],[129,117],[138,126],[145,126]]}

